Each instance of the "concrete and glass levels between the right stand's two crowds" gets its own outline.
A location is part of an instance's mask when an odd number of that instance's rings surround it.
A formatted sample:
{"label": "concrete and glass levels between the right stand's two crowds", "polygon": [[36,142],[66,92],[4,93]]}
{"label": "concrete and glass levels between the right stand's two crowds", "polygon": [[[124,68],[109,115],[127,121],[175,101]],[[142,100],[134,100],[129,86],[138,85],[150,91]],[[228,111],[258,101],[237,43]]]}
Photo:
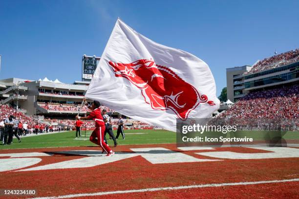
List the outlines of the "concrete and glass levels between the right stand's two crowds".
{"label": "concrete and glass levels between the right stand's two crowds", "polygon": [[249,65],[227,68],[227,98],[235,102],[252,91],[298,84],[299,56],[293,61],[273,63],[273,67],[254,73],[250,72],[254,66]]}

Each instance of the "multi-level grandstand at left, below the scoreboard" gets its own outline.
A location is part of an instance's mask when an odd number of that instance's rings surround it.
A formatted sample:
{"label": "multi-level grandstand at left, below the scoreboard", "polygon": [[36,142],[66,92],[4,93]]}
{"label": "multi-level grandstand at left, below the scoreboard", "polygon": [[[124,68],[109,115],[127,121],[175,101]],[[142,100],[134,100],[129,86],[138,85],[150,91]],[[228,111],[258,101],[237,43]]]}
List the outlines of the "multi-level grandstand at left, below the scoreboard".
{"label": "multi-level grandstand at left, below the scoreboard", "polygon": [[[49,118],[68,118],[78,113],[89,82],[75,81],[74,84],[59,80],[6,79],[0,80],[1,104],[10,104],[28,115],[44,115]],[[79,104],[79,105],[78,105]],[[105,107],[108,112],[117,114]],[[82,113],[86,113],[83,108]]]}

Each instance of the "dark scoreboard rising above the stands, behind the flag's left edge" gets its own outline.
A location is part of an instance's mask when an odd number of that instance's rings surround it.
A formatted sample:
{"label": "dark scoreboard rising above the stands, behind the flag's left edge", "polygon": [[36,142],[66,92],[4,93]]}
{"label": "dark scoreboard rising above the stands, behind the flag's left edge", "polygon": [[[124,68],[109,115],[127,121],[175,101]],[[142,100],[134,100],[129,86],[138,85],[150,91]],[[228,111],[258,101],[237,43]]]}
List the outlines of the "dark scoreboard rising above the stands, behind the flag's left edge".
{"label": "dark scoreboard rising above the stands, behind the flag's left edge", "polygon": [[101,58],[84,55],[82,57],[82,81],[90,81],[97,69],[97,65]]}

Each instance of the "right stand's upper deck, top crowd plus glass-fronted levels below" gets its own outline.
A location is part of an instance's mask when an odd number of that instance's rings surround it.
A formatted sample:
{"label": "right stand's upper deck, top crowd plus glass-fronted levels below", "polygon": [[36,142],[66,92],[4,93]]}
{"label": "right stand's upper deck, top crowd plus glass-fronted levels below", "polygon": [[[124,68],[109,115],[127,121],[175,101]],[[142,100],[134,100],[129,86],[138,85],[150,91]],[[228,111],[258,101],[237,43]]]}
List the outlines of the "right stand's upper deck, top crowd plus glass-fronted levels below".
{"label": "right stand's upper deck, top crowd plus glass-fronted levels below", "polygon": [[236,101],[251,91],[296,84],[299,81],[299,49],[258,61],[244,70],[237,70],[238,68],[242,67],[227,69],[227,96],[231,101]]}

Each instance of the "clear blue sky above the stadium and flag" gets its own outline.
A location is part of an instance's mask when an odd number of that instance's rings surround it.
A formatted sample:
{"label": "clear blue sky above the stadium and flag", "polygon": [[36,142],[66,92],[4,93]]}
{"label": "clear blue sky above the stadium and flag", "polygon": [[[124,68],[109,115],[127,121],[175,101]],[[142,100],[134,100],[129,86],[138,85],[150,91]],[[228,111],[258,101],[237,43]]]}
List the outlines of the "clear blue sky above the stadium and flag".
{"label": "clear blue sky above the stadium and flag", "polygon": [[206,61],[217,95],[225,68],[299,47],[298,0],[0,0],[0,79],[81,80],[120,17],[151,40]]}

